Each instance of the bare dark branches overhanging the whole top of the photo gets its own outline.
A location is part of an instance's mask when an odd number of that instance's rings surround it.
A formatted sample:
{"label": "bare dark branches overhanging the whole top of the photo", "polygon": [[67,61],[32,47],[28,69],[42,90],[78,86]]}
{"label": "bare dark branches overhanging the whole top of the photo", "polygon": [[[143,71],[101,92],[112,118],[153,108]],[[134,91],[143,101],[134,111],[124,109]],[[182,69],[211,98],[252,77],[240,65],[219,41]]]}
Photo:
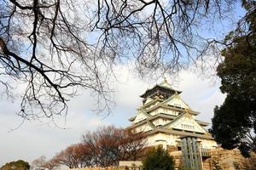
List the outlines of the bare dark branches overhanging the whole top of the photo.
{"label": "bare dark branches overhanging the whole top of the photo", "polygon": [[[177,72],[214,41],[197,28],[223,14],[231,0],[3,0],[0,3],[0,84],[26,87],[20,116],[67,113],[79,88],[109,109],[113,65],[136,61],[141,75]],[[211,42],[211,43],[209,43]]]}

